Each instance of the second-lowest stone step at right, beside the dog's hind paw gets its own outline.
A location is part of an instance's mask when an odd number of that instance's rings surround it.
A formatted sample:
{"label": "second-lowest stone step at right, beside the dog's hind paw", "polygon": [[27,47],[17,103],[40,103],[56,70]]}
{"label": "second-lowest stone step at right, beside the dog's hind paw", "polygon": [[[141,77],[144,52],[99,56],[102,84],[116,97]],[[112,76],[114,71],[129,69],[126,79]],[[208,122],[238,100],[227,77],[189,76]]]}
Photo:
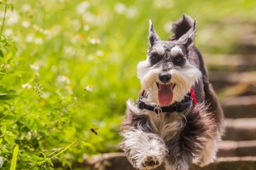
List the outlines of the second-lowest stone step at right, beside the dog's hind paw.
{"label": "second-lowest stone step at right, beside the dog's hind paw", "polygon": [[221,141],[218,145],[218,157],[256,156],[256,140]]}

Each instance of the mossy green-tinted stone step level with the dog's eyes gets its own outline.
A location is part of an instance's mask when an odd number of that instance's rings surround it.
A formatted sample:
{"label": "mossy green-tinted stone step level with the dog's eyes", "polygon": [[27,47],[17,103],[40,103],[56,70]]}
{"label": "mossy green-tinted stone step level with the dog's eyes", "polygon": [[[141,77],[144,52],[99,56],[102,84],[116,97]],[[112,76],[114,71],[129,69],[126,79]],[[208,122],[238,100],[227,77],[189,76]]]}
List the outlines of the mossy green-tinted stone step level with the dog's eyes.
{"label": "mossy green-tinted stone step level with the dog's eyes", "polygon": [[209,71],[255,71],[256,54],[204,54]]}

